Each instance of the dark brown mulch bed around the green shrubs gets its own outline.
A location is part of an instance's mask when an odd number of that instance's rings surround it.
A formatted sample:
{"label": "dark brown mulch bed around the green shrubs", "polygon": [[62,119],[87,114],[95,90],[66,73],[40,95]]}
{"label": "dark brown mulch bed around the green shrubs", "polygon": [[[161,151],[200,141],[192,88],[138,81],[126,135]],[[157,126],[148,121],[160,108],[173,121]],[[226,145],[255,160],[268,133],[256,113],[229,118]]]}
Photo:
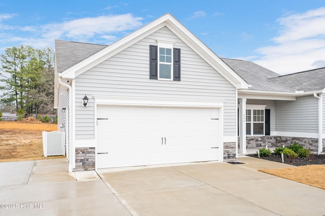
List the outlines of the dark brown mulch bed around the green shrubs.
{"label": "dark brown mulch bed around the green shrubs", "polygon": [[[257,158],[257,154],[252,154],[247,156]],[[259,157],[259,158],[282,163],[281,155],[272,154],[270,157]],[[325,164],[325,155],[311,155],[309,158],[296,158],[292,162],[288,158],[284,157],[284,163],[294,165],[294,166]]]}

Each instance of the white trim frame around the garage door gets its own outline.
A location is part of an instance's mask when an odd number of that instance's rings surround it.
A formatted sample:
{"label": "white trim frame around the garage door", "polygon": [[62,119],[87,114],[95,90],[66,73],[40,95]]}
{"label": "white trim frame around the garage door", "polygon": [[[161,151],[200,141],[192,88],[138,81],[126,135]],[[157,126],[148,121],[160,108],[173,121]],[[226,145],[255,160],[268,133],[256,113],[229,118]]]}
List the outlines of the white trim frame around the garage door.
{"label": "white trim frame around the garage door", "polygon": [[[181,98],[153,98],[153,97],[122,97],[122,96],[93,96],[94,98],[94,125],[95,125],[95,160],[97,161],[98,134],[97,134],[97,106],[145,106],[145,107],[185,107],[185,108],[214,108],[219,111],[218,128],[220,129],[219,161],[223,160],[223,101]],[[95,163],[97,169],[97,163]]]}

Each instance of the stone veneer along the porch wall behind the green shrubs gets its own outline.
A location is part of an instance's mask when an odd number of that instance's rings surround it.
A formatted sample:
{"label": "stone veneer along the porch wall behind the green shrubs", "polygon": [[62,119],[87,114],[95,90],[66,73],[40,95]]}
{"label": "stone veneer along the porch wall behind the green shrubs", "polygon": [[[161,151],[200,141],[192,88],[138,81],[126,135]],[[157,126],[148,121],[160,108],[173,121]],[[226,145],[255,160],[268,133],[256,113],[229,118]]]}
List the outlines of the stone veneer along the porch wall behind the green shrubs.
{"label": "stone veneer along the porch wall behind the green shrubs", "polygon": [[[305,138],[305,137],[290,137],[290,136],[247,136],[246,137],[246,148],[247,149],[258,149],[270,147],[288,147],[298,142],[299,145],[306,149],[310,149],[311,152],[318,151],[318,139],[317,138]],[[323,139],[323,150],[325,139]],[[238,148],[239,148],[239,137],[238,137]]]}

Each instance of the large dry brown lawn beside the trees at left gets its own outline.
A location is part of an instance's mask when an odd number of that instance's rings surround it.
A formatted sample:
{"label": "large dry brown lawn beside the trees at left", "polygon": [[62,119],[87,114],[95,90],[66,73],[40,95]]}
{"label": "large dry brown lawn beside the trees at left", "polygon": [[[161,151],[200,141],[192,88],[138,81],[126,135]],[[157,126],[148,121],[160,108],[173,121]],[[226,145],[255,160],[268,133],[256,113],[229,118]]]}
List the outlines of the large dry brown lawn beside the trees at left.
{"label": "large dry brown lawn beside the trees at left", "polygon": [[64,158],[44,157],[42,131],[57,130],[48,124],[28,118],[22,122],[0,122],[0,162]]}

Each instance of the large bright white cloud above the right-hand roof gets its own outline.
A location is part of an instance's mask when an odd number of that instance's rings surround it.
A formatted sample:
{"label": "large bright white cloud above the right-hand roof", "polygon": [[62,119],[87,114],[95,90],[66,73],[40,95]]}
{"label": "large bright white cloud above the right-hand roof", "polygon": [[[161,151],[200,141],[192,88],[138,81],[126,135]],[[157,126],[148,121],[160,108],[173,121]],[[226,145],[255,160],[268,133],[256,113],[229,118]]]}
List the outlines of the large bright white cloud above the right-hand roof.
{"label": "large bright white cloud above the right-hand roof", "polygon": [[273,46],[256,50],[254,62],[279,74],[325,66],[325,7],[278,19],[281,29]]}

